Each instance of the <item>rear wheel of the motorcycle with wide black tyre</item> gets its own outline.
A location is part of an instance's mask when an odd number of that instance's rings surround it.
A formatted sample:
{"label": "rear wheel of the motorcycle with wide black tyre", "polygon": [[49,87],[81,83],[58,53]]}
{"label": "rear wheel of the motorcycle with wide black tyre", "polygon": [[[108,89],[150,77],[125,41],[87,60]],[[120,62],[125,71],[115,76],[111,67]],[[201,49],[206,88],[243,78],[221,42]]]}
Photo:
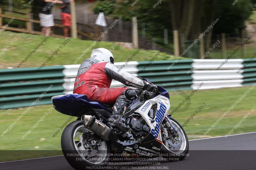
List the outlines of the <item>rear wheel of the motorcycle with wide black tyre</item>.
{"label": "rear wheel of the motorcycle with wide black tyre", "polygon": [[64,129],[61,148],[68,163],[75,169],[105,165],[110,156],[108,142],[86,129],[80,120],[71,122]]}

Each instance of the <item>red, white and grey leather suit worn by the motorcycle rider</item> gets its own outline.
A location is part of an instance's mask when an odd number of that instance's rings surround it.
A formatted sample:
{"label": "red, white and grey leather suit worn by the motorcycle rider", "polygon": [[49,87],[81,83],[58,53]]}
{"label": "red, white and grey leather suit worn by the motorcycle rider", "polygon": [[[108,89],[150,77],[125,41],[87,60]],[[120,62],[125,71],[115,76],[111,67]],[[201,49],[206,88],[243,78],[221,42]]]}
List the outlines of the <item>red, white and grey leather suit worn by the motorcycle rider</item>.
{"label": "red, white and grey leather suit worn by the motorcycle rider", "polygon": [[85,94],[89,100],[113,104],[127,89],[127,87],[109,88],[113,79],[126,86],[144,87],[143,80],[118,69],[114,64],[88,58],[79,67],[73,92]]}

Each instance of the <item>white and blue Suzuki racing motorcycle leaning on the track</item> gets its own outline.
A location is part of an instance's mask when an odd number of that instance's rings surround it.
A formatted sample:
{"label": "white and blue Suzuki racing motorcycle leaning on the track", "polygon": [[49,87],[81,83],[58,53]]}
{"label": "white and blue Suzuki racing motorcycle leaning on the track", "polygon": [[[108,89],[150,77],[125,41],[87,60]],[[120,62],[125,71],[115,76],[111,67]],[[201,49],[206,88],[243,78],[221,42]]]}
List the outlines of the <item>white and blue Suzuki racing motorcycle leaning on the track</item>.
{"label": "white and blue Suzuki racing motorcycle leaning on the track", "polygon": [[184,159],[189,148],[187,134],[180,123],[167,114],[169,93],[161,86],[157,88],[153,92],[137,92],[136,99],[122,115],[129,127],[125,132],[113,124],[107,125],[113,105],[89,101],[83,94],[53,96],[58,112],[78,117],[61,136],[61,148],[68,163],[75,169],[87,169],[115,160],[113,155],[124,158],[160,155],[169,161]]}

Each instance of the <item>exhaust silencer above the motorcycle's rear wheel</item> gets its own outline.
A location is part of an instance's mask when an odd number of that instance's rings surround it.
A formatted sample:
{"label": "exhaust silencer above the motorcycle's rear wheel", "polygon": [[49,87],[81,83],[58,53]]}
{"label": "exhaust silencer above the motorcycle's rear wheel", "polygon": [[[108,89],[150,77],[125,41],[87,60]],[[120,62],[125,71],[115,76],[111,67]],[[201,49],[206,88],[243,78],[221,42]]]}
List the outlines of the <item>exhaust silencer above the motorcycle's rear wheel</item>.
{"label": "exhaust silencer above the motorcycle's rear wheel", "polygon": [[84,127],[88,128],[102,139],[108,140],[111,129],[107,125],[98,121],[95,116],[83,115],[81,121],[83,122]]}

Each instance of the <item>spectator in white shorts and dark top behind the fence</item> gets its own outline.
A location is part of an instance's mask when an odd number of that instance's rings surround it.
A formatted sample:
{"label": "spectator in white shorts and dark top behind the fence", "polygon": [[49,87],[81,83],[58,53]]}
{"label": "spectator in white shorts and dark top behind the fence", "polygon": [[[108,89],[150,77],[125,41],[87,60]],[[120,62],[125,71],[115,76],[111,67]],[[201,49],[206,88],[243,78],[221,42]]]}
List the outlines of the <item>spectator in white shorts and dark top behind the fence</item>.
{"label": "spectator in white shorts and dark top behind the fence", "polygon": [[40,26],[42,26],[42,35],[48,36],[51,32],[51,26],[54,26],[52,7],[55,4],[62,4],[59,0],[43,0],[41,11],[39,13]]}

